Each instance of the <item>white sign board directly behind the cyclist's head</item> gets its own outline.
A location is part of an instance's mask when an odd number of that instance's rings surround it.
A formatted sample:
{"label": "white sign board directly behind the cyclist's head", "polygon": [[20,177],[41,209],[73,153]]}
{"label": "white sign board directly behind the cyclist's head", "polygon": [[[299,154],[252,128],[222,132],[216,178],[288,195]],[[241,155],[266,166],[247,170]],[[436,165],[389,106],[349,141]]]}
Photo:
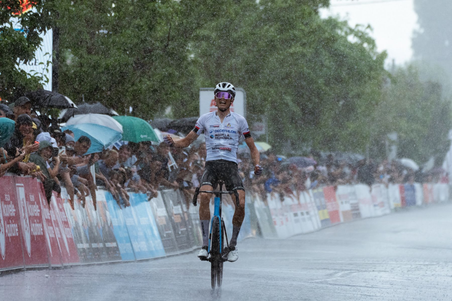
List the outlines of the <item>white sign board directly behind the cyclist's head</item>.
{"label": "white sign board directly behind the cyclist's head", "polygon": [[[246,118],[246,94],[245,90],[237,88],[235,90],[234,102],[231,105],[231,111]],[[217,111],[213,88],[201,88],[199,90],[199,116],[208,112]]]}

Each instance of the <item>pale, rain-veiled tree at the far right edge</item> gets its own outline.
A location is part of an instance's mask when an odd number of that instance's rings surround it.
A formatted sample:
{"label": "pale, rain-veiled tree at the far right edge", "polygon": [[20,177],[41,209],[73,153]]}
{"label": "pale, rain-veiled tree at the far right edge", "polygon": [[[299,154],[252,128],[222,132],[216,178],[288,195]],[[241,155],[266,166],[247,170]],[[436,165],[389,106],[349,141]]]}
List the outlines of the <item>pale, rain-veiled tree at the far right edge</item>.
{"label": "pale, rain-veiled tree at the far right edge", "polygon": [[450,116],[450,99],[443,95],[441,84],[422,81],[415,65],[395,70],[372,118],[372,155],[384,157],[386,135],[396,132],[398,157],[419,163],[434,157],[440,165],[450,144]]}

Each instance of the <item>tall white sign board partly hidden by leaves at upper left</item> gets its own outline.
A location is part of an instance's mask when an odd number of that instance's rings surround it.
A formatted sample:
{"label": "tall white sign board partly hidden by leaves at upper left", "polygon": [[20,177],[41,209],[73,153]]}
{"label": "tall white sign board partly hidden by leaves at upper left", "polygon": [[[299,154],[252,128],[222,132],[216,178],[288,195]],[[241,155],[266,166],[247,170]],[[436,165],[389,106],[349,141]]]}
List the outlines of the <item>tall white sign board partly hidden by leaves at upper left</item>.
{"label": "tall white sign board partly hidden by leaves at upper left", "polygon": [[[33,8],[33,12],[36,9]],[[18,22],[17,18],[11,18],[14,24],[14,30],[23,31],[21,24]],[[23,62],[19,65],[19,68],[27,72],[28,74],[34,75],[36,72],[47,76],[49,79],[48,83],[42,83],[44,90],[52,91],[52,64],[47,67],[47,61],[52,62],[52,29],[49,29],[46,34],[41,33],[39,37],[42,37],[42,43],[40,47],[35,52],[34,60],[28,61],[27,64]],[[40,64],[43,63],[43,64]],[[46,70],[47,68],[47,70]]]}

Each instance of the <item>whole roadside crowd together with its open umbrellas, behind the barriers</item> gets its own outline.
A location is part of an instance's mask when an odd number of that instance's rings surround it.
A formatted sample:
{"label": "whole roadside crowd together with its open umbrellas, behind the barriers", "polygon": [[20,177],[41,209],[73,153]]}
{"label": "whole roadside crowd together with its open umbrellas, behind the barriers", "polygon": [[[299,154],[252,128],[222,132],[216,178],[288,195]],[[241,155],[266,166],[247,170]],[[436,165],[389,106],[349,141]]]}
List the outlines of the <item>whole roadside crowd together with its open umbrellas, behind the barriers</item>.
{"label": "whole roadside crowd together with its open umbrellas, behind the barriers", "polygon": [[[159,189],[181,190],[189,203],[204,170],[203,137],[185,149],[170,148],[161,138],[171,134],[178,139],[188,134],[196,117],[149,123],[117,116],[101,104],[77,108],[69,103],[58,118],[51,119],[33,109],[42,97],[58,96],[42,91],[30,94],[31,99],[23,96],[8,105],[0,104],[0,176],[10,172],[38,177],[47,199],[52,190],[60,193],[65,187],[72,206],[75,195],[82,205],[91,195],[95,205],[99,187],[109,190],[120,206],[129,205],[127,191],[146,193],[152,199]],[[266,143],[257,144],[264,174],[254,176],[244,143],[238,151],[239,173],[245,189],[264,199],[267,193],[298,194],[319,185],[449,181],[443,169],[426,172],[410,159],[377,162],[358,154],[316,151],[283,156]]]}

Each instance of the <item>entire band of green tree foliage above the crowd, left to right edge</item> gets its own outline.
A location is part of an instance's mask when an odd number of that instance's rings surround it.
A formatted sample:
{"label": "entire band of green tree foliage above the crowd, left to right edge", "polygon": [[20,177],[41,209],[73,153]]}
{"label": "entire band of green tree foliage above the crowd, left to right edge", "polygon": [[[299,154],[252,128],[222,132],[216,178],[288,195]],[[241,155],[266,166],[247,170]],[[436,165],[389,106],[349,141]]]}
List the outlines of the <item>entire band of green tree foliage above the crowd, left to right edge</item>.
{"label": "entire band of green tree foliage above the crowd, left to right edge", "polygon": [[20,17],[27,35],[10,30],[2,10],[0,96],[39,86],[42,78],[18,71],[17,60],[31,59],[39,32],[57,26],[59,92],[76,102],[83,95],[120,113],[132,106],[145,119],[167,107],[175,118],[197,116],[199,88],[230,81],[247,93],[250,124],[268,120],[278,151],[363,153],[370,146],[384,157],[386,135],[396,131],[400,156],[441,157],[450,126],[443,87],[414,66],[389,74],[371,29],[321,19],[318,10],[328,5],[47,0]]}

